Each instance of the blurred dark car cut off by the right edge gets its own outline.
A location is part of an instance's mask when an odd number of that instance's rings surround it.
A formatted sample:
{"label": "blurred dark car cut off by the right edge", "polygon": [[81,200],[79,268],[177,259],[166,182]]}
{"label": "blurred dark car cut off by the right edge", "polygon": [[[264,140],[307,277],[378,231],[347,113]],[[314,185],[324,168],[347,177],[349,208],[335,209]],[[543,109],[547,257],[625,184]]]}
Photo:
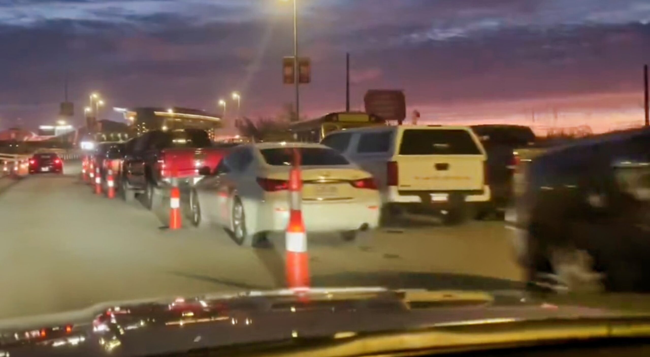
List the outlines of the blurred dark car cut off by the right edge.
{"label": "blurred dark car cut off by the right edge", "polygon": [[579,140],[527,170],[508,221],[529,282],[650,291],[650,129]]}

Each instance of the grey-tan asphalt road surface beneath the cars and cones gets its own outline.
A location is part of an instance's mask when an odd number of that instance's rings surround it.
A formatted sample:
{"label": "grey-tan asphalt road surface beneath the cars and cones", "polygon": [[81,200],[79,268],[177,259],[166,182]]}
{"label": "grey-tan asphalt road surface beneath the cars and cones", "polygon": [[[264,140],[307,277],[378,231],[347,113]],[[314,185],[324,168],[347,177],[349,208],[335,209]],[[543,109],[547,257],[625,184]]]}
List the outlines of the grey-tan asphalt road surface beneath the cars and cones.
{"label": "grey-tan asphalt road surface beneath the cars and cones", "polygon": [[[284,286],[283,237],[239,247],[218,227],[161,229],[166,204],[109,200],[64,175],[0,179],[0,318],[104,301]],[[499,222],[434,221],[363,234],[309,235],[314,286],[504,289],[519,286],[512,232]]]}

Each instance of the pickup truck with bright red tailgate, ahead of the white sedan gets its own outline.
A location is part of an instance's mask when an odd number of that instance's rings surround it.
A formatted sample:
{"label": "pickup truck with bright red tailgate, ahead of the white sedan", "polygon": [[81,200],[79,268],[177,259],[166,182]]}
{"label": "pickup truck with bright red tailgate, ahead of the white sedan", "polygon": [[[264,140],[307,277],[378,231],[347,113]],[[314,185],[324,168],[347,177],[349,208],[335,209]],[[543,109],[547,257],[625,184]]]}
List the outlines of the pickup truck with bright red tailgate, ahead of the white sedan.
{"label": "pickup truck with bright red tailgate, ahead of the white sedan", "polygon": [[157,189],[169,186],[172,178],[194,184],[200,171],[214,170],[226,150],[213,147],[204,130],[151,130],[125,153],[119,190],[127,201],[144,194],[143,203],[151,209]]}

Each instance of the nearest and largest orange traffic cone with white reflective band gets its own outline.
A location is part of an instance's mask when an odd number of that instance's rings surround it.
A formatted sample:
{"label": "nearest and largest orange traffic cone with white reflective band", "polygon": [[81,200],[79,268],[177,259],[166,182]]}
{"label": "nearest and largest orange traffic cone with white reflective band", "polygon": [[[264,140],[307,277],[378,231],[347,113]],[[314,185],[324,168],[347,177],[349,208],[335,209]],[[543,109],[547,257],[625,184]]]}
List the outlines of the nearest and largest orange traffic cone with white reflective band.
{"label": "nearest and largest orange traffic cone with white reflective band", "polygon": [[287,286],[292,289],[309,287],[307,232],[302,220],[301,204],[300,156],[298,151],[294,150],[294,166],[289,173],[289,224],[285,234]]}

